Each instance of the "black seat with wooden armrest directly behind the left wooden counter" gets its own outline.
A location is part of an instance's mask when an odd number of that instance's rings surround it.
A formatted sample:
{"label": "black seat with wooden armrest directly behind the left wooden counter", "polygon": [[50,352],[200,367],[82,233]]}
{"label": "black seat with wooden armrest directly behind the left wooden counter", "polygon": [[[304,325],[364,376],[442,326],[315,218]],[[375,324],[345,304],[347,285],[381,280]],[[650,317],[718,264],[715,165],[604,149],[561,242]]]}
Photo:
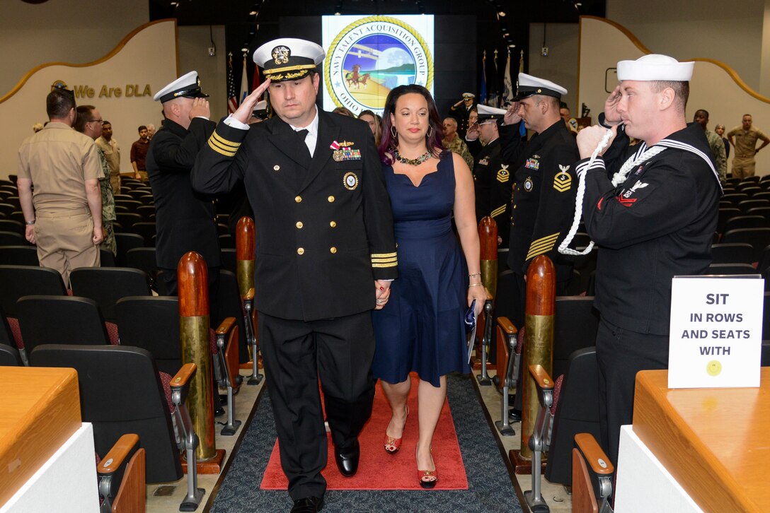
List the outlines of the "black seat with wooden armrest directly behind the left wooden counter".
{"label": "black seat with wooden armrest directly behind the left wooden counter", "polygon": [[[42,345],[32,351],[30,363],[75,368],[82,420],[93,425],[97,453],[106,454],[125,433],[136,433],[146,450],[148,483],[179,481],[179,451],[185,451],[187,494],[179,511],[196,510],[206,491],[197,488],[199,439],[185,405],[195,364],[184,365],[164,384],[148,351],[124,345]],[[170,391],[164,393],[164,387]]]}

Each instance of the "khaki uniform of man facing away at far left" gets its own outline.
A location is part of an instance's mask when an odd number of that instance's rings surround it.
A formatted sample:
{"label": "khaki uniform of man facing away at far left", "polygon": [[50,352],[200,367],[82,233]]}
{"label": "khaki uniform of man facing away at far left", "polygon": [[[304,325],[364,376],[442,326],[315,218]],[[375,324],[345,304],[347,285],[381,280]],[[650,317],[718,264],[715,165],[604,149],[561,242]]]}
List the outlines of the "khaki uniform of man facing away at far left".
{"label": "khaki uniform of man facing away at far left", "polygon": [[92,138],[50,122],[22,142],[17,174],[32,180],[40,265],[59,271],[65,285],[72,269],[99,267],[85,181],[104,172]]}

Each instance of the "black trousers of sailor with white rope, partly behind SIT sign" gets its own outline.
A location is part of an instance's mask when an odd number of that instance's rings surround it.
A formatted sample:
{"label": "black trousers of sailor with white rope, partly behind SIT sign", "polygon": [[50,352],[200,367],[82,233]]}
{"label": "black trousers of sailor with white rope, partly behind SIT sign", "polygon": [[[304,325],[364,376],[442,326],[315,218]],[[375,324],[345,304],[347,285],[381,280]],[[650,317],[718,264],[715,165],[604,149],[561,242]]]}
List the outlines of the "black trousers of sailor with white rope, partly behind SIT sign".
{"label": "black trousers of sailor with white rope, partly behind SIT sign", "polygon": [[596,335],[596,358],[601,445],[617,467],[621,426],[634,419],[636,373],[668,368],[668,335],[628,331],[602,316]]}

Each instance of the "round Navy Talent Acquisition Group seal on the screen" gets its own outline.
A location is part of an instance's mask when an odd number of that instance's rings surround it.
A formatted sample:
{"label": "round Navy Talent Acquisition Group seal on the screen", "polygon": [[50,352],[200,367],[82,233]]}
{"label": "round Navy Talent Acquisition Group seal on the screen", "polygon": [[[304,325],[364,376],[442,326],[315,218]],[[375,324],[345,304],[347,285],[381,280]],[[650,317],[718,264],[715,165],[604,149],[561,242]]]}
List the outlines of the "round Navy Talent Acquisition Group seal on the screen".
{"label": "round Navy Talent Acquisition Group seal on the screen", "polygon": [[333,102],[353,113],[381,111],[397,85],[433,83],[428,45],[413,27],[389,16],[370,16],[334,38],[323,65]]}

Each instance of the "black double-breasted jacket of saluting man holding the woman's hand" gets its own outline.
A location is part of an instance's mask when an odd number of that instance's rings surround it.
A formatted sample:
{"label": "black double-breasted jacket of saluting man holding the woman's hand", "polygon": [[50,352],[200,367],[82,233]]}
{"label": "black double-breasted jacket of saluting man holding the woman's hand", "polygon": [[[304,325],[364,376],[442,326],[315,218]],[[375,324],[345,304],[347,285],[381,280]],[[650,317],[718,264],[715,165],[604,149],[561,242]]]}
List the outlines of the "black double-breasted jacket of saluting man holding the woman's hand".
{"label": "black double-breasted jacket of saluting man holding the woman's hand", "polygon": [[[243,180],[256,225],[256,309],[280,318],[370,310],[373,280],[397,277],[393,215],[372,133],[357,119],[318,116],[312,159],[274,117],[249,130],[220,123],[192,169],[201,192],[229,191]],[[350,152],[335,151],[333,142]]]}

